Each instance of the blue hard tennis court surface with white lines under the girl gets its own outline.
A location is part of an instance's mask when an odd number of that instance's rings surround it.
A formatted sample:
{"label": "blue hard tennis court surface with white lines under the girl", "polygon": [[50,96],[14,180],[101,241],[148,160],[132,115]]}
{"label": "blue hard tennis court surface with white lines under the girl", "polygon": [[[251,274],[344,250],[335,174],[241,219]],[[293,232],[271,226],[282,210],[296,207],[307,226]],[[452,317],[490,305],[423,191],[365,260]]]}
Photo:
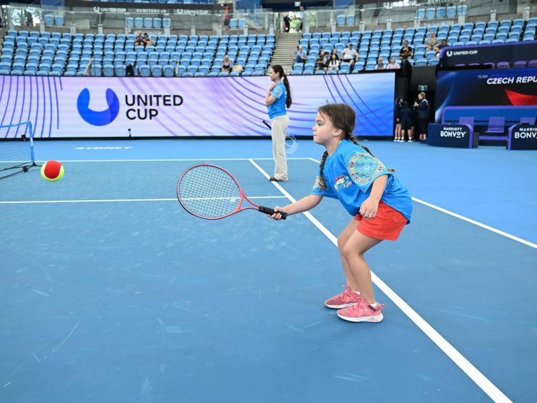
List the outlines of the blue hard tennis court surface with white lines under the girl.
{"label": "blue hard tennis court surface with white lines under the girl", "polygon": [[308,195],[322,148],[299,144],[271,183],[265,140],[36,142],[66,174],[0,181],[0,402],[535,402],[535,153],[364,143],[415,198],[366,255],[373,324],[323,304],[338,201],[211,222],[176,199],[202,161],[258,204]]}

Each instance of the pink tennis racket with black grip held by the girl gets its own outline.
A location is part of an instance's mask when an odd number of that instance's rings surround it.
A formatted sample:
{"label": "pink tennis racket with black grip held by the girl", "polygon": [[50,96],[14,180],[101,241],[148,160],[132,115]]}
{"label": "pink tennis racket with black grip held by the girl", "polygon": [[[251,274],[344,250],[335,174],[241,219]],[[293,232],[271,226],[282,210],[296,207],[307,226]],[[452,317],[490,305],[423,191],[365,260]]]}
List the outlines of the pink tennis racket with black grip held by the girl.
{"label": "pink tennis racket with black grip held by the girl", "polygon": [[[233,175],[210,164],[193,165],[183,172],[177,183],[177,198],[188,213],[206,220],[220,220],[243,210],[276,213],[273,208],[252,203]],[[251,206],[244,207],[243,201]],[[278,213],[282,220],[287,218],[287,213]]]}

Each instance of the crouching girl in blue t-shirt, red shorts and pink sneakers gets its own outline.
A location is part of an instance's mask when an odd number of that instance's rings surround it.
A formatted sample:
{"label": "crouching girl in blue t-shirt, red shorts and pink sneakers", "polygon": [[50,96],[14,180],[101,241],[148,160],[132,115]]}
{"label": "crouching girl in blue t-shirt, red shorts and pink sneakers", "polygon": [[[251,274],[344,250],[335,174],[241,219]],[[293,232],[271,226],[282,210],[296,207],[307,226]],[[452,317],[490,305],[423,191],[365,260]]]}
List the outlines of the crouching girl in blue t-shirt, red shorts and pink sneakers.
{"label": "crouching girl in blue t-shirt, red shorts and pink sneakers", "polygon": [[[311,195],[285,207],[288,215],[317,206],[324,196],[339,199],[353,216],[338,237],[347,279],[345,290],[324,302],[350,322],[380,322],[384,306],[375,300],[371,272],[364,253],[382,240],[395,241],[410,222],[412,200],[408,190],[352,135],[356,113],[345,104],[321,106],[315,117],[313,141],[326,151]],[[280,220],[281,214],[271,215]]]}

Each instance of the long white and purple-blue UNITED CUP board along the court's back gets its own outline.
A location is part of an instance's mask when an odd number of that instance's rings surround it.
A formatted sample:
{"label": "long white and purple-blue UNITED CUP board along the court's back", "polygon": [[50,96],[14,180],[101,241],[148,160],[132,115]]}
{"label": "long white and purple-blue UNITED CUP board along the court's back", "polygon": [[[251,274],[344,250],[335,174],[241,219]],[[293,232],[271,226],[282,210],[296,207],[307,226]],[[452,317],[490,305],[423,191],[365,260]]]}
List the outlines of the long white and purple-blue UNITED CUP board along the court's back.
{"label": "long white and purple-blue UNITED CUP board along the court's back", "polygon": [[[394,74],[289,77],[288,132],[310,136],[317,108],[343,102],[357,113],[355,133],[391,136]],[[270,136],[258,77],[141,78],[0,76],[0,126],[31,121],[38,138]],[[24,127],[1,129],[0,138]]]}

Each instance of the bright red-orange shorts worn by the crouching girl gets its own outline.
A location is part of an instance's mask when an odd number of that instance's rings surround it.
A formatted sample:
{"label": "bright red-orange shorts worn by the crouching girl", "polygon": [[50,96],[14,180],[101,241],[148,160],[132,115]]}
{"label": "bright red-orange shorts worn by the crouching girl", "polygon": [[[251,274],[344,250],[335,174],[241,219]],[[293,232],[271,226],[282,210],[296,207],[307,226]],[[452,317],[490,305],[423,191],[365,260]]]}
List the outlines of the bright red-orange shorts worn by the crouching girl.
{"label": "bright red-orange shorts worn by the crouching girl", "polygon": [[357,230],[375,239],[386,239],[395,241],[406,225],[406,218],[394,208],[388,206],[383,201],[378,204],[378,211],[375,218],[366,220],[361,215],[356,215],[355,220],[359,220]]}

